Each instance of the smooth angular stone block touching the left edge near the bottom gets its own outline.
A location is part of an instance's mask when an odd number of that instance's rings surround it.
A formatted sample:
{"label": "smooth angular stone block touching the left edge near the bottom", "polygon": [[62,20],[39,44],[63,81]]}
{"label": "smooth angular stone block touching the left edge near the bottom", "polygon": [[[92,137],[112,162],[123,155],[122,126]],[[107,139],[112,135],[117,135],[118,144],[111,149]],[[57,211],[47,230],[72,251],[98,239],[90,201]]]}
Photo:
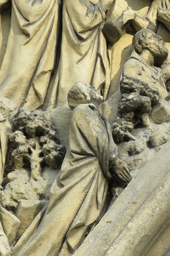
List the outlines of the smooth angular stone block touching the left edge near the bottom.
{"label": "smooth angular stone block touching the left edge near the bottom", "polygon": [[20,220],[14,214],[0,206],[0,222],[10,246],[13,246],[16,241],[16,233],[21,224]]}

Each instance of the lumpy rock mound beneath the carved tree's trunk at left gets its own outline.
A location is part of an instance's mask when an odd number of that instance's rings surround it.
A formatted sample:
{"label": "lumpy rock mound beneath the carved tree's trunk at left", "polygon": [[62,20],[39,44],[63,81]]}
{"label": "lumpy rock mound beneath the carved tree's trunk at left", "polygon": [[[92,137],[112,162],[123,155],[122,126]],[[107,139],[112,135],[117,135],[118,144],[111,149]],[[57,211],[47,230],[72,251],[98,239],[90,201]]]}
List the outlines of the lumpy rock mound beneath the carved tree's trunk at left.
{"label": "lumpy rock mound beneath the carved tree's trunk at left", "polygon": [[49,200],[51,185],[57,177],[59,170],[44,168],[38,180],[30,180],[31,172],[25,169],[18,169],[10,172],[2,192],[2,206],[8,206],[16,212],[20,200]]}

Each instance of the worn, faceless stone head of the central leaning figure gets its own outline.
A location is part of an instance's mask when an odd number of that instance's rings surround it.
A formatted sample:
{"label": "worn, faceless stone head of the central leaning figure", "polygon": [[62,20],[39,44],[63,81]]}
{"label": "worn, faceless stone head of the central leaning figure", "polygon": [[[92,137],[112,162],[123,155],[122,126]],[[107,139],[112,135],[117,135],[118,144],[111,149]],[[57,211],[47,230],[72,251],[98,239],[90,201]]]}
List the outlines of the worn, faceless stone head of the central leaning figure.
{"label": "worn, faceless stone head of the central leaning figure", "polygon": [[80,104],[98,103],[100,104],[103,97],[94,86],[78,82],[72,86],[68,92],[68,105],[73,110]]}

